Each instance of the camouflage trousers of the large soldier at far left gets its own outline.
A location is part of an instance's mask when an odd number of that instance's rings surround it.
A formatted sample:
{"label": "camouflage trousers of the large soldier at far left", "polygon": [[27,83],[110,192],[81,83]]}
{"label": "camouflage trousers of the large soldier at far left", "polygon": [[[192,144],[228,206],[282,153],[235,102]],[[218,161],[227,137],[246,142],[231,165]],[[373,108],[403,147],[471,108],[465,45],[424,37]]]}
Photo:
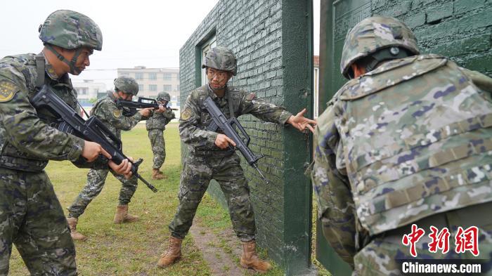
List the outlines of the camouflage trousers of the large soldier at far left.
{"label": "camouflage trousers of the large soldier at far left", "polygon": [[8,274],[12,244],[31,275],[77,275],[70,230],[44,171],[0,168],[0,275]]}

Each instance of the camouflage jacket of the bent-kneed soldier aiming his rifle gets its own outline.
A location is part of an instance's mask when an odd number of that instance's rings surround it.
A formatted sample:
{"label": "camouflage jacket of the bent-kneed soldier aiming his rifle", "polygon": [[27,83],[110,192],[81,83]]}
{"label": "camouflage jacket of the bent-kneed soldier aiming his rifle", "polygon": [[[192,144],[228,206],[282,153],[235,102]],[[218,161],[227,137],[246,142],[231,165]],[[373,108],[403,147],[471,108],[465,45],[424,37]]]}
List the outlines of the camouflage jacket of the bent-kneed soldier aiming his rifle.
{"label": "camouflage jacket of the bent-kneed soldier aiming his rifle", "polygon": [[122,130],[129,131],[143,119],[140,112],[136,112],[131,117],[123,116],[123,110],[117,107],[116,98],[112,92],[108,92],[107,97],[96,102],[91,109],[91,115],[98,117],[118,139],[122,137]]}

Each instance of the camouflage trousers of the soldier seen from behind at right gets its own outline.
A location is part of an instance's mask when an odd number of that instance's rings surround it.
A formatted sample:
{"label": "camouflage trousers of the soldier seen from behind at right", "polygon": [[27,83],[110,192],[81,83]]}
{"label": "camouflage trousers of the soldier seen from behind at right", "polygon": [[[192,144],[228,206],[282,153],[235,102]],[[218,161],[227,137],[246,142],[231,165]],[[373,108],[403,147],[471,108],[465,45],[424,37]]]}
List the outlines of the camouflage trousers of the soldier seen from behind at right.
{"label": "camouflage trousers of the soldier seen from behind at right", "polygon": [[[423,264],[428,261],[432,262],[432,259],[446,260],[446,263],[459,261],[465,264],[481,263],[481,274],[479,275],[492,275],[491,210],[491,203],[479,204],[446,213],[438,213],[434,216],[416,221],[415,225],[425,230],[425,234],[415,244],[416,258],[410,255],[410,247],[402,244],[402,237],[403,235],[410,234],[411,225],[377,235],[373,241],[366,245],[354,257],[355,270],[352,275],[405,275],[401,271],[401,263],[403,261]],[[443,254],[439,248],[436,253],[429,251],[429,243],[432,242],[432,239],[429,237],[429,234],[432,232],[430,230],[431,225],[436,227],[438,231],[448,228],[451,235],[449,236],[449,251],[447,254]],[[477,226],[479,229],[479,256],[473,256],[470,251],[460,254],[455,252],[455,237],[458,226],[461,226],[464,230],[470,226]],[[454,274],[462,275],[460,273]]]}

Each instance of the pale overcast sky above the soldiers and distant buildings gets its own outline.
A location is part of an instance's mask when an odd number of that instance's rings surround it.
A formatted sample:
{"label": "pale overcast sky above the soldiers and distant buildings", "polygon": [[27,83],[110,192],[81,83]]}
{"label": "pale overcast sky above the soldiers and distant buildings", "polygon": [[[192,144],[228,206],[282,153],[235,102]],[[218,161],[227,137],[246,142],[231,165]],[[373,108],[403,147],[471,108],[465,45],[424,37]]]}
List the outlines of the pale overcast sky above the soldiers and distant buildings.
{"label": "pale overcast sky above the soldiers and distant buildings", "polygon": [[[273,0],[272,0],[273,1]],[[94,79],[111,88],[116,68],[179,67],[179,49],[218,0],[181,1],[8,1],[0,16],[0,57],[39,53],[38,27],[58,9],[84,13],[101,27],[103,51],[94,51],[91,66],[72,80]],[[319,2],[313,0],[315,20]],[[319,23],[314,24],[315,55]],[[316,35],[317,34],[317,35]]]}

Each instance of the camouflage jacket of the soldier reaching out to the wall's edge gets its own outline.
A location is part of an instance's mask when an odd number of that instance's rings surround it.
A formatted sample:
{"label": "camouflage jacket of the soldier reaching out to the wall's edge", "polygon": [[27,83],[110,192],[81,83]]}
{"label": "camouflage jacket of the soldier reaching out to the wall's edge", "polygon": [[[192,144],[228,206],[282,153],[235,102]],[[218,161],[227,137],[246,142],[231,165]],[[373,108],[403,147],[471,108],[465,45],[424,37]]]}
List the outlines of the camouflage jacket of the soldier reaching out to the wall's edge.
{"label": "camouflage jacket of the soldier reaching out to the wall's edge", "polygon": [[284,107],[266,103],[256,98],[254,93],[240,91],[232,86],[226,88],[224,97],[215,95],[208,85],[201,86],[191,91],[186,99],[184,110],[179,119],[179,136],[184,143],[190,145],[190,152],[195,155],[231,155],[230,150],[221,150],[215,145],[216,132],[207,131],[206,128],[212,123],[212,117],[205,108],[204,101],[211,97],[217,107],[230,118],[228,100],[233,101],[233,112],[235,117],[242,114],[252,114],[264,121],[285,124],[292,114]]}

